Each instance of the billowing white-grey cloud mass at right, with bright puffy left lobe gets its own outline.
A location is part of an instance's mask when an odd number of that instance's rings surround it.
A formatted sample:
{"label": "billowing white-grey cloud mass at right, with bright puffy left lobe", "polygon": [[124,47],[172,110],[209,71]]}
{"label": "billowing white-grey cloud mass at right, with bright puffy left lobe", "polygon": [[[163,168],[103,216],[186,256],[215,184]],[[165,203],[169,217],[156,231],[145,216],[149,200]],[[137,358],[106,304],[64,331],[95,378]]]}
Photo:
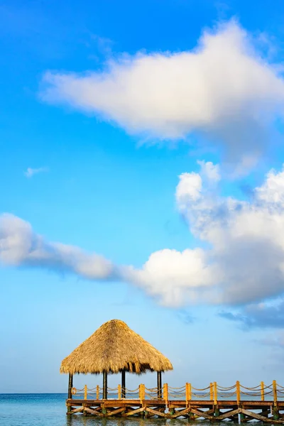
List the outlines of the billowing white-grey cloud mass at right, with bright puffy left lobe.
{"label": "billowing white-grey cloud mass at right, with bright puffy left lobe", "polygon": [[[251,305],[284,293],[284,171],[271,170],[246,201],[219,196],[219,180],[218,166],[201,163],[176,189],[180,214],[206,248],[158,251],[135,271],[133,281],[166,305]],[[268,315],[257,312],[236,320]]]}

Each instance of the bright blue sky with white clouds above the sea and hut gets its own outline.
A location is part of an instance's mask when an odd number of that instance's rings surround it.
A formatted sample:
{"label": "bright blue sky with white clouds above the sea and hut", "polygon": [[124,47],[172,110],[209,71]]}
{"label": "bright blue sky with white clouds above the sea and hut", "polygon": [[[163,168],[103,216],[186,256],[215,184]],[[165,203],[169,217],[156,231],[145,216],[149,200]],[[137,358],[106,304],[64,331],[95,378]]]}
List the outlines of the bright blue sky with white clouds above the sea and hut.
{"label": "bright blue sky with white clouds above the sea and hut", "polygon": [[[284,4],[12,0],[0,11],[0,392],[64,392],[61,360],[112,318],[170,358],[172,386],[283,384]],[[187,63],[204,31],[213,65]],[[184,53],[197,80],[180,76]],[[141,380],[155,376],[128,378]]]}

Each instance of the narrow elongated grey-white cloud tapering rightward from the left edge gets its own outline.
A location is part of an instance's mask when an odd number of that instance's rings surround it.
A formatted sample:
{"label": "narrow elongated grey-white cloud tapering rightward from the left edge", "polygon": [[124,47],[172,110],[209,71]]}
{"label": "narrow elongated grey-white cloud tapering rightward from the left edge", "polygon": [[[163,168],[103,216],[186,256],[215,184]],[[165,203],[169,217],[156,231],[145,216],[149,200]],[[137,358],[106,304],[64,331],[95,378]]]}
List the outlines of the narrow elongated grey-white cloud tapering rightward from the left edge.
{"label": "narrow elongated grey-white cloud tapering rightward from the left edge", "polygon": [[35,234],[31,224],[12,214],[0,217],[0,262],[66,271],[96,280],[118,277],[115,266],[103,256],[86,253],[75,246],[47,242]]}

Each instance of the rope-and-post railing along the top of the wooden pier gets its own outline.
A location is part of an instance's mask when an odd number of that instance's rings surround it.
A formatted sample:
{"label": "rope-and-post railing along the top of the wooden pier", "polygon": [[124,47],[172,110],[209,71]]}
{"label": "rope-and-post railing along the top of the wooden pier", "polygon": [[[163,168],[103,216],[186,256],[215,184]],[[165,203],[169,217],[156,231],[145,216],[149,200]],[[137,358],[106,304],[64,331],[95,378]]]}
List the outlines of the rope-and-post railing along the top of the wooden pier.
{"label": "rope-and-post railing along the top of the wooden pier", "polygon": [[[136,389],[125,389],[125,398],[121,392],[121,385],[116,388],[107,388],[109,399],[131,399],[131,400],[185,400],[190,403],[192,400],[210,400],[217,404],[218,400],[235,400],[239,403],[241,400],[261,400],[273,401],[284,398],[284,387],[280,386],[275,380],[270,385],[266,385],[263,381],[251,388],[241,385],[239,381],[233,386],[220,386],[217,382],[209,383],[206,388],[195,388],[191,383],[185,383],[180,388],[163,385],[162,389],[147,388],[141,384]],[[87,385],[82,389],[72,388],[72,398],[74,399],[90,399],[101,400],[103,397],[103,389],[97,385],[95,388],[88,388]]]}

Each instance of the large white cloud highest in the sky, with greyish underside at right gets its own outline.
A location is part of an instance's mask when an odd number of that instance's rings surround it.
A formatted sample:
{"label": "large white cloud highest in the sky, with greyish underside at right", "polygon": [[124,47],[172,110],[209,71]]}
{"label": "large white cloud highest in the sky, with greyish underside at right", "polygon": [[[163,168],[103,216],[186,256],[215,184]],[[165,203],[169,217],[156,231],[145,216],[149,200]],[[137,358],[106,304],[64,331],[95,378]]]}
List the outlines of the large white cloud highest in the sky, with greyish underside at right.
{"label": "large white cloud highest in the sky, with greyish underside at right", "polygon": [[250,166],[283,115],[284,82],[261,58],[236,22],[205,31],[196,48],[113,58],[84,75],[46,72],[41,93],[114,121],[129,133],[202,140],[224,148],[227,159]]}

